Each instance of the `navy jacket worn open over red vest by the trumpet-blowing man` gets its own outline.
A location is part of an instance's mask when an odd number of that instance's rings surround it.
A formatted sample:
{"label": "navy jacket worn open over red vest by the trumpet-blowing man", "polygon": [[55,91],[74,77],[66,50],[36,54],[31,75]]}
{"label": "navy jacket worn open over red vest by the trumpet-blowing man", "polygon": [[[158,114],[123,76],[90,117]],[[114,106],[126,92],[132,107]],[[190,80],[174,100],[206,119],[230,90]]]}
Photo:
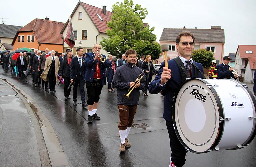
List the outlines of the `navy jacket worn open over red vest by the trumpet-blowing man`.
{"label": "navy jacket worn open over red vest by the trumpet-blowing man", "polygon": [[[102,56],[106,58],[105,55],[102,54]],[[94,57],[95,55],[93,52],[86,53],[85,55],[85,80],[89,82],[93,82],[93,76],[95,73],[96,61],[94,61]],[[105,61],[104,63],[99,62],[99,67],[102,85],[106,85],[106,68],[109,67],[109,63],[107,61]]]}

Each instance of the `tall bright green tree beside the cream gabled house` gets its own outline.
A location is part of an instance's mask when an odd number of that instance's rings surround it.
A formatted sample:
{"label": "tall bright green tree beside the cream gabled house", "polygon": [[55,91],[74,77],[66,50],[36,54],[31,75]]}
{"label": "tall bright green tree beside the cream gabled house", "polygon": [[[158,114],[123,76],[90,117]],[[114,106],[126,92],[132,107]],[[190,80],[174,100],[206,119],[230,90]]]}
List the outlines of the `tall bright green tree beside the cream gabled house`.
{"label": "tall bright green tree beside the cream gabled house", "polygon": [[161,47],[157,44],[153,28],[144,27],[143,19],[148,11],[136,4],[133,7],[132,0],[124,0],[113,5],[111,21],[106,30],[108,38],[100,42],[102,47],[110,54],[121,58],[126,50],[133,48],[140,54],[149,54],[152,59],[160,56]]}

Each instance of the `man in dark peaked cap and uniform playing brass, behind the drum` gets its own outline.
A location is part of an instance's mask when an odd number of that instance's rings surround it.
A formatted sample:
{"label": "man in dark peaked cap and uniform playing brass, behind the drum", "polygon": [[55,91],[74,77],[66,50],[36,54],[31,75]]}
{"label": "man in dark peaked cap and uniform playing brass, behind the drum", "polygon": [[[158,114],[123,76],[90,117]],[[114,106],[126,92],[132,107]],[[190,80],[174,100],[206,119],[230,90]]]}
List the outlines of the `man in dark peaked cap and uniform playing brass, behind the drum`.
{"label": "man in dark peaked cap and uniform playing brass, behind the drum", "polygon": [[223,57],[223,62],[219,65],[217,65],[217,79],[224,79],[224,78],[228,78],[230,79],[230,77],[232,78],[238,78],[237,75],[234,75],[232,73],[232,70],[234,70],[233,67],[229,68],[229,61],[231,60],[231,58],[229,56],[224,56]]}

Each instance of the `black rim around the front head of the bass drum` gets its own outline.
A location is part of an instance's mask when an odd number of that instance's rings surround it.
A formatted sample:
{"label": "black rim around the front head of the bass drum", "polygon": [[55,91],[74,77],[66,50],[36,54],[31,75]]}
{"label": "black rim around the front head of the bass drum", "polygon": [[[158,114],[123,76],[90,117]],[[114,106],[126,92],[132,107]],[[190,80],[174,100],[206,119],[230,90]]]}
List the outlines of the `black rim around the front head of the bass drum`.
{"label": "black rim around the front head of the bass drum", "polygon": [[[195,79],[198,79],[198,80],[202,81],[202,82],[205,83],[205,84],[210,84],[209,82],[207,82],[206,80],[201,79],[201,78],[188,78],[188,79],[186,79],[186,80],[180,85],[180,87],[178,88],[178,91],[177,91],[177,92],[179,93],[180,89],[182,88],[182,86],[183,86],[185,83],[187,83],[187,82],[190,81],[190,80],[195,80]],[[215,98],[215,100],[216,100],[216,102],[217,102],[217,107],[218,107],[218,111],[219,111],[219,116],[221,116],[222,118],[224,118],[223,107],[222,107],[221,100],[220,100],[220,98],[219,98],[217,92],[215,91],[215,89],[214,89],[213,87],[210,87],[209,89],[212,91],[212,93],[213,93],[213,95],[214,95],[214,98]],[[178,93],[177,93],[177,95],[178,95]],[[175,121],[175,105],[176,105],[177,95],[175,94],[174,103],[173,103],[173,108],[172,108],[172,109],[173,109],[173,112],[172,112],[172,122],[173,122],[173,128],[174,128],[175,134],[176,134],[177,138],[179,139],[180,143],[183,145],[183,147],[184,147],[187,151],[190,151],[190,152],[193,152],[193,153],[200,154],[200,153],[206,153],[206,152],[211,151],[211,149],[214,149],[214,148],[219,144],[219,142],[220,142],[220,139],[221,139],[222,134],[223,134],[223,131],[224,131],[224,124],[225,124],[225,122],[223,121],[222,123],[219,123],[219,128],[218,128],[218,129],[219,129],[219,133],[218,133],[217,137],[215,138],[214,143],[212,144],[212,146],[211,146],[208,150],[206,150],[206,151],[204,151],[204,152],[197,152],[197,151],[192,150],[191,148],[189,148],[189,147],[182,141],[182,138],[180,137],[180,134],[179,134],[178,129],[177,129],[177,127],[176,127],[176,121]]]}

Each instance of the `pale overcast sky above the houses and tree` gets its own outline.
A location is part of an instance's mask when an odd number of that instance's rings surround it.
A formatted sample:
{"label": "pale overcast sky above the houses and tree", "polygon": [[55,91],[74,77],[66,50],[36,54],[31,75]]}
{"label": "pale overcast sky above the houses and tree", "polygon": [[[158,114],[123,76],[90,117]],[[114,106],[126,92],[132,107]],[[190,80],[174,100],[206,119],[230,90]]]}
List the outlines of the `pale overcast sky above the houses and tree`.
{"label": "pale overcast sky above the houses and tree", "polygon": [[[66,22],[78,0],[1,0],[4,10],[0,18],[8,25],[25,26],[35,18]],[[102,8],[106,5],[112,11],[112,5],[118,0],[81,0],[84,3]],[[122,2],[122,1],[119,1]],[[163,28],[210,29],[221,26],[225,29],[224,56],[235,53],[238,44],[255,45],[256,1],[255,0],[133,0],[147,8],[148,15],[144,23],[155,27],[157,42]],[[2,22],[2,19],[0,20]]]}

